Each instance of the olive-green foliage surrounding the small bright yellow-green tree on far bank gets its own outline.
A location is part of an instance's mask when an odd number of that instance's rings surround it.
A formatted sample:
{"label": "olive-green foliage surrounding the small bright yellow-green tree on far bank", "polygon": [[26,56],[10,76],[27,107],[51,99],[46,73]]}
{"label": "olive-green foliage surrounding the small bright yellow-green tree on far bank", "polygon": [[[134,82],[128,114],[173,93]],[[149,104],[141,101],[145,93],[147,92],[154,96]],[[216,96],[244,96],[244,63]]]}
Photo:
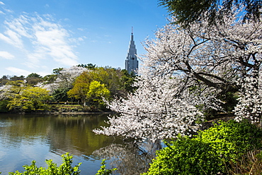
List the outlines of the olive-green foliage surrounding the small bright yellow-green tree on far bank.
{"label": "olive-green foliage surrounding the small bright yellow-green tree on far bank", "polygon": [[[84,71],[76,78],[73,83],[74,87],[67,94],[69,97],[81,99],[83,104],[86,102],[94,104],[93,97],[86,96],[93,81],[104,85],[110,92],[108,99],[113,99],[113,97],[126,97],[127,92],[133,92],[134,87],[132,87],[132,83],[135,81],[135,76],[128,74],[127,71],[121,71],[120,68],[111,68],[108,66],[89,69],[89,71]],[[101,97],[98,99],[101,99]],[[100,102],[95,104],[101,104],[101,100],[98,101]]]}

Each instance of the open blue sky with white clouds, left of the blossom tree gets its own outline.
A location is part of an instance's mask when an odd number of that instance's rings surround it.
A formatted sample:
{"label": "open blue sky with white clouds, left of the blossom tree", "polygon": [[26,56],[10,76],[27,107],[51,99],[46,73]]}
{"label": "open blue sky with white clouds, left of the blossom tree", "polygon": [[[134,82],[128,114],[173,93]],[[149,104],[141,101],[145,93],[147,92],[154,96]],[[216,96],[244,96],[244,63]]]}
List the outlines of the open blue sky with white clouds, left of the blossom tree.
{"label": "open blue sky with white clouds, left of the blossom tree", "polygon": [[167,21],[157,0],[0,0],[0,78],[96,64],[125,68],[134,30],[141,42]]}

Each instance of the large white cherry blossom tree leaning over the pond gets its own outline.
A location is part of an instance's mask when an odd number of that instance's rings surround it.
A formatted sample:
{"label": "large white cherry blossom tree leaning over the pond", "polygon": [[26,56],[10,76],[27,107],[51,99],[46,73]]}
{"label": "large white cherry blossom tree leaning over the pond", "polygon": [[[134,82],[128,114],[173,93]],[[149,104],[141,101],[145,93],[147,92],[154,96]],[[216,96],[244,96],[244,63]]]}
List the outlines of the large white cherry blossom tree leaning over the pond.
{"label": "large white cherry blossom tree leaning over the pond", "polygon": [[108,104],[120,116],[94,132],[152,142],[190,134],[205,110],[222,110],[221,99],[228,92],[240,92],[239,120],[247,114],[260,119],[262,20],[243,23],[239,13],[224,14],[216,25],[203,19],[188,28],[172,18],[157,30],[156,39],[144,44],[147,54],[141,58],[137,91]]}

